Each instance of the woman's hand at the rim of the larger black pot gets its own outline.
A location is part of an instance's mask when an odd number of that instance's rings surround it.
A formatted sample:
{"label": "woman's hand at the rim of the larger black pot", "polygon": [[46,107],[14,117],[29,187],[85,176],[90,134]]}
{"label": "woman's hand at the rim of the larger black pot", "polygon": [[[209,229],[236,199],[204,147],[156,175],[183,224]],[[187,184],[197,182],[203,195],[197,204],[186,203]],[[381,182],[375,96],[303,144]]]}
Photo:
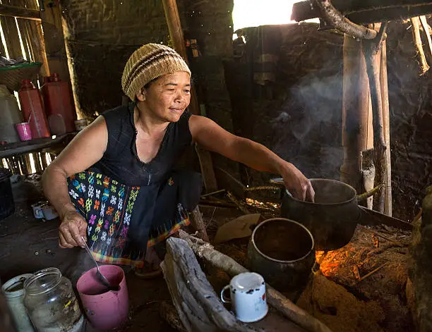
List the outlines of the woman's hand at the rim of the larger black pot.
{"label": "woman's hand at the rim of the larger black pot", "polygon": [[296,166],[287,163],[280,169],[280,173],[284,179],[285,187],[296,199],[314,202],[315,191],[313,191],[311,181]]}

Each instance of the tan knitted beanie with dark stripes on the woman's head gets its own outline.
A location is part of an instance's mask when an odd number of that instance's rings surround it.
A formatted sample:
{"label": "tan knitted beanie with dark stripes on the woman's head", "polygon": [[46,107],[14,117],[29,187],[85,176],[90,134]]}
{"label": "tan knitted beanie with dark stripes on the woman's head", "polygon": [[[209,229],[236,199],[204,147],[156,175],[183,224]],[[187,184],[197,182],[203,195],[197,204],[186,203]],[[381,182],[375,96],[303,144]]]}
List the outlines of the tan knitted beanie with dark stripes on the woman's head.
{"label": "tan knitted beanie with dark stripes on the woman's head", "polygon": [[143,87],[165,74],[186,71],[191,75],[188,65],[171,47],[162,44],[145,44],[133,52],[123,70],[121,87],[126,96],[135,100]]}

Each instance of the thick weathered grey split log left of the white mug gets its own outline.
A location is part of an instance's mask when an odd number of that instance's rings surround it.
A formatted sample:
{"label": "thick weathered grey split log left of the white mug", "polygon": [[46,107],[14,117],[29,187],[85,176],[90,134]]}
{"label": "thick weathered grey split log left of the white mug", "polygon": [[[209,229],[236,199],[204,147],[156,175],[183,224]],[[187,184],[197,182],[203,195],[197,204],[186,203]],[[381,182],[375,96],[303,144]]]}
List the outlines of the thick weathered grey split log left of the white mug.
{"label": "thick weathered grey split log left of the white mug", "polygon": [[161,266],[187,331],[263,331],[241,323],[224,308],[185,240],[167,240]]}

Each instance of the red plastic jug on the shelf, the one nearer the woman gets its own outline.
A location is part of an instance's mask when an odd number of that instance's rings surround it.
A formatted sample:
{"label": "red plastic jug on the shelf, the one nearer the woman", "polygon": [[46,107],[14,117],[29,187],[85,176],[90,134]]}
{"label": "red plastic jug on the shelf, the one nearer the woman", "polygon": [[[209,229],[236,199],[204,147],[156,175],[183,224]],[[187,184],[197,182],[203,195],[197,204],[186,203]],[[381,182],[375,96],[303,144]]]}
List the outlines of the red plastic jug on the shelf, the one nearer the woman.
{"label": "red plastic jug on the shelf, the one nearer the woman", "polygon": [[[49,123],[56,123],[56,128],[62,128],[63,126],[59,125],[59,119],[62,118],[66,133],[76,131],[76,112],[69,83],[60,80],[59,74],[52,73],[49,78],[44,78],[44,85],[42,85],[41,90]],[[50,118],[53,118],[53,121]],[[53,129],[54,125],[52,131]],[[59,135],[61,133],[54,133],[53,131],[53,134]]]}

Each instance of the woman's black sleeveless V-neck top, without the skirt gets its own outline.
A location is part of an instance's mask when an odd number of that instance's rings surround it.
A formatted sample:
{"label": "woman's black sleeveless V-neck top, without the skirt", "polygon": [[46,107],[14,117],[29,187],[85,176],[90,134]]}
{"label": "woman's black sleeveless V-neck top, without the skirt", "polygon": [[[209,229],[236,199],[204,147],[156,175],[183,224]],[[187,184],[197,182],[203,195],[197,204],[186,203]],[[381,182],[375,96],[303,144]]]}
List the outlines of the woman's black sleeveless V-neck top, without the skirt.
{"label": "woman's black sleeveless V-neck top, without the skirt", "polygon": [[159,152],[152,161],[144,163],[136,151],[135,106],[135,103],[130,103],[102,113],[107,123],[108,145],[94,167],[124,185],[159,184],[167,180],[176,161],[192,143],[189,130],[191,113],[185,111],[179,121],[169,123]]}

